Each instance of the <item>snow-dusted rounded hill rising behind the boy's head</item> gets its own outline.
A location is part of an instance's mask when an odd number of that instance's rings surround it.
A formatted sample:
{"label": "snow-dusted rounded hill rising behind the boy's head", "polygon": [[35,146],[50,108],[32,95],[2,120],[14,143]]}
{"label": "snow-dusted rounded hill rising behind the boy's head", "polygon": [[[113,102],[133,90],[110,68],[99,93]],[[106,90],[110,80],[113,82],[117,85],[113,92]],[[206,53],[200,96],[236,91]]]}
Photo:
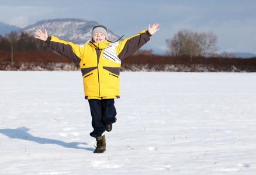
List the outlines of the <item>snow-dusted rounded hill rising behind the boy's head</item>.
{"label": "snow-dusted rounded hill rising behind the boy's head", "polygon": [[[46,29],[49,36],[53,35],[60,40],[70,41],[75,44],[84,44],[91,41],[91,31],[95,25],[99,24],[84,19],[49,19],[27,26],[22,31],[34,33],[36,29],[42,31]],[[118,39],[119,36],[116,36],[109,30],[109,40],[116,41]]]}

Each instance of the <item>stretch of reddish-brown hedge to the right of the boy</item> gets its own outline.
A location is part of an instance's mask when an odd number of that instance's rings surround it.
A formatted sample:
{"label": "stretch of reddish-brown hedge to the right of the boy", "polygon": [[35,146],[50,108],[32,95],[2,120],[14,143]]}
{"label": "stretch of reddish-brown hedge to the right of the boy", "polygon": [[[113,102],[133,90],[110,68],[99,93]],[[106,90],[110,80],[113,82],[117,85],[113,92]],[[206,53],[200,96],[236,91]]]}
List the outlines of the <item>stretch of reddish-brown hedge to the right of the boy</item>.
{"label": "stretch of reddish-brown hedge to the right of the boy", "polygon": [[255,58],[131,55],[123,71],[256,72]]}

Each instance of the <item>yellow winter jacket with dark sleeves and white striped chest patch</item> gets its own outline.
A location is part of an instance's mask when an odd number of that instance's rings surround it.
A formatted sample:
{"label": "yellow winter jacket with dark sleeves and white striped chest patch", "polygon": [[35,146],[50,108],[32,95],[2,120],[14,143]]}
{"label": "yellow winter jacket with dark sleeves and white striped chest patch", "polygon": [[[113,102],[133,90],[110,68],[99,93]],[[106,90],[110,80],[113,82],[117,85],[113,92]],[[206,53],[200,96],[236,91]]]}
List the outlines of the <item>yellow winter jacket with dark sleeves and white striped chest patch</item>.
{"label": "yellow winter jacket with dark sleeves and white striped chest patch", "polygon": [[57,53],[79,62],[85,99],[116,99],[119,98],[121,60],[139,50],[150,40],[150,36],[148,31],[143,30],[136,36],[120,42],[91,41],[82,46],[51,36],[47,38],[46,44]]}

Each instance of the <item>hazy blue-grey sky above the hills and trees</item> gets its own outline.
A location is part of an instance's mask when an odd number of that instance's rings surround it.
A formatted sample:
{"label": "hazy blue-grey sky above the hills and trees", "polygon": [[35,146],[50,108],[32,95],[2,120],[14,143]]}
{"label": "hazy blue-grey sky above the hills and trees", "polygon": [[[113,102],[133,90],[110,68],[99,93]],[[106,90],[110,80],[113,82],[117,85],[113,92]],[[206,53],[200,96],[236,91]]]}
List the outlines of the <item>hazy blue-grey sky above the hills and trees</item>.
{"label": "hazy blue-grey sky above the hills and trees", "polygon": [[165,53],[167,38],[181,29],[212,31],[223,51],[256,54],[255,0],[1,0],[0,22],[26,27],[39,20],[80,18],[105,25],[118,36],[130,37],[148,24],[160,30],[143,49]]}

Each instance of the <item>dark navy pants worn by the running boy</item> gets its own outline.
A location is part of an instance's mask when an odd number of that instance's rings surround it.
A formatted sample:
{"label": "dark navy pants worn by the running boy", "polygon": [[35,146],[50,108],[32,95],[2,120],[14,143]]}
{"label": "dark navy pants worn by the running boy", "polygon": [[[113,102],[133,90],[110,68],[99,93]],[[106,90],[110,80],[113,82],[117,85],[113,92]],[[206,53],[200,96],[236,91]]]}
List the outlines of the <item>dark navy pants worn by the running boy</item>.
{"label": "dark navy pants worn by the running boy", "polygon": [[106,131],[105,126],[116,122],[116,108],[114,99],[88,100],[92,115],[92,127],[94,131],[90,133],[97,138]]}

